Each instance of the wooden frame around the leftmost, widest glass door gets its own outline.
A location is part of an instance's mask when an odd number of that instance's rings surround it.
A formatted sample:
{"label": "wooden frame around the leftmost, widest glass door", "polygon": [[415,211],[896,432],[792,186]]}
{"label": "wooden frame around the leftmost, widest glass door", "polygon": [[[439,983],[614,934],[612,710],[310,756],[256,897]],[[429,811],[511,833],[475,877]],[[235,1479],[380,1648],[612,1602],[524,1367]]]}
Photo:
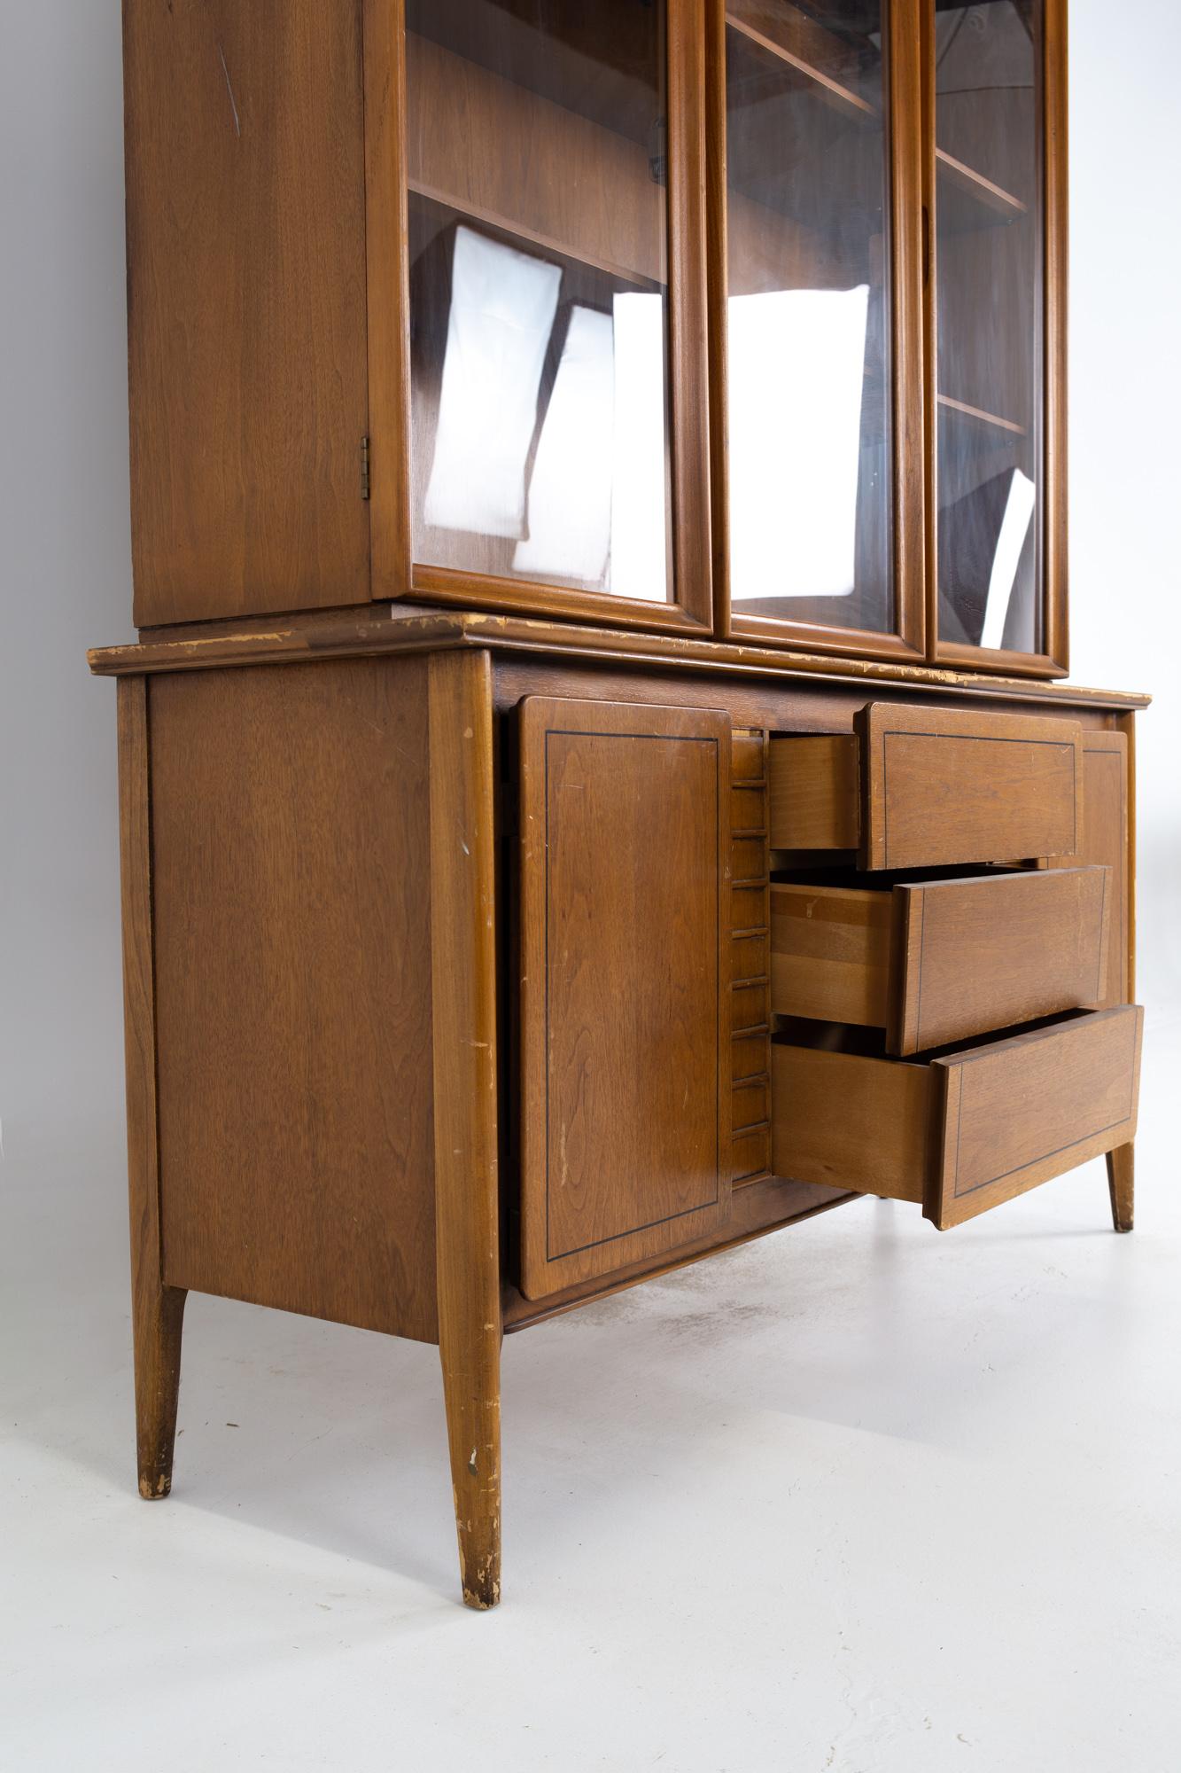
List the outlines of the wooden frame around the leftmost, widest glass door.
{"label": "wooden frame around the leftmost, widest glass door", "polygon": [[669,395],[674,603],[495,578],[413,560],[410,479],[410,222],[406,0],[364,0],[365,216],[374,599],[573,617],[709,635],[706,275],[706,5],[667,0]]}

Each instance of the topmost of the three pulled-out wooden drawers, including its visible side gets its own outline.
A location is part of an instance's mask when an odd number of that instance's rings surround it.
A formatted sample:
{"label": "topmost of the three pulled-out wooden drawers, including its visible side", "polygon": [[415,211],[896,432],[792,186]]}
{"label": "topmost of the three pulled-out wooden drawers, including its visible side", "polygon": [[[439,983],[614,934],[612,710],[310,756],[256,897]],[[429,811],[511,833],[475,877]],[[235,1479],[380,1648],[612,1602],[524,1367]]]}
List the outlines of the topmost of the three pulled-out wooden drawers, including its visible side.
{"label": "topmost of the three pulled-out wooden drawers, including its visible side", "polygon": [[771,849],[855,849],[865,869],[1080,853],[1071,720],[871,702],[853,734],[768,750]]}

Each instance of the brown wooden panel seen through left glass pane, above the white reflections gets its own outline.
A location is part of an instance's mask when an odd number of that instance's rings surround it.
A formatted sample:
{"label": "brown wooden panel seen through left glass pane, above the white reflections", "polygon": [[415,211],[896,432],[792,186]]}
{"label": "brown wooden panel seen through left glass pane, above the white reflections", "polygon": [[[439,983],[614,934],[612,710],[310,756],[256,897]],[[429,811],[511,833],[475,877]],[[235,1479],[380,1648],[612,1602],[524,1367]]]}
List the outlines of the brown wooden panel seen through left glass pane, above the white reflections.
{"label": "brown wooden panel seen through left glass pane, above the white reflections", "polygon": [[665,285],[665,190],[640,144],[415,32],[406,62],[413,193],[621,282]]}

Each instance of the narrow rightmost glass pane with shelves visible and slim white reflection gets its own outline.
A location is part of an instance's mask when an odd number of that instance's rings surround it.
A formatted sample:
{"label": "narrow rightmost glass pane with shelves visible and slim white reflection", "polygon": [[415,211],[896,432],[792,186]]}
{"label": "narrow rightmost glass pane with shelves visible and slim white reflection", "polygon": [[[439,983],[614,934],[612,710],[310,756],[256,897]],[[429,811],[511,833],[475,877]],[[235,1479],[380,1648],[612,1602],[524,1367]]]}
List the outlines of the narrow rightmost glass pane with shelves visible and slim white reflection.
{"label": "narrow rightmost glass pane with shelves visible and slim white reflection", "polygon": [[1041,651],[1041,0],[935,20],[940,637]]}

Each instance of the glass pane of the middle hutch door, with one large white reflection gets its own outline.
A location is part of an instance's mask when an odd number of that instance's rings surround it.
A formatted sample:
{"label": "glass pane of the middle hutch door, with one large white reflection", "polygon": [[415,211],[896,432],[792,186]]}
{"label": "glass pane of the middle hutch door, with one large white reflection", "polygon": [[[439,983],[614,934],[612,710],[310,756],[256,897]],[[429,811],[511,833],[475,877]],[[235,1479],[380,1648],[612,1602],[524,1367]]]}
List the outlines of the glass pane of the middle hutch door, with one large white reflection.
{"label": "glass pane of the middle hutch door, with one large white reflection", "polygon": [[881,0],[731,0],[736,615],[894,629]]}

